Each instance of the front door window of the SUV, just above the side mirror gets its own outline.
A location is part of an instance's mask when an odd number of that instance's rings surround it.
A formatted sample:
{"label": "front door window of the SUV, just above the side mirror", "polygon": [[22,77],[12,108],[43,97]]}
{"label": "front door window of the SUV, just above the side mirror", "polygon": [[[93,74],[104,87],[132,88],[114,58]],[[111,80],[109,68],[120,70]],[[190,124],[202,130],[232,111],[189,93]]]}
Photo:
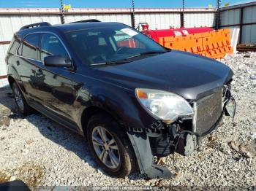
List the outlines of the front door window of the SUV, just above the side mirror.
{"label": "front door window of the SUV, just above the side mirror", "polygon": [[67,51],[60,40],[53,34],[42,34],[41,40],[41,61],[49,55],[61,55],[64,58],[69,58]]}

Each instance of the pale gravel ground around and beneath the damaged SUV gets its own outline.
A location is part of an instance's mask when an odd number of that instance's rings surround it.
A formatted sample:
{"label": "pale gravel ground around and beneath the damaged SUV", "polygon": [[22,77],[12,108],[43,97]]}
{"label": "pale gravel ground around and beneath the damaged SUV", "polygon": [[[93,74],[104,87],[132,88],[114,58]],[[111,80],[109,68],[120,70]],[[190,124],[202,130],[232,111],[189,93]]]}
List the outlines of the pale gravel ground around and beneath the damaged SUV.
{"label": "pale gravel ground around and beneath the damaged SUV", "polygon": [[30,187],[89,186],[236,186],[256,185],[256,158],[230,148],[229,142],[256,149],[256,53],[246,52],[221,60],[236,77],[235,122],[229,118],[204,139],[193,155],[164,158],[173,179],[145,179],[132,174],[125,179],[106,176],[91,160],[83,137],[42,116],[17,114],[12,95],[0,90],[0,183],[21,179]]}

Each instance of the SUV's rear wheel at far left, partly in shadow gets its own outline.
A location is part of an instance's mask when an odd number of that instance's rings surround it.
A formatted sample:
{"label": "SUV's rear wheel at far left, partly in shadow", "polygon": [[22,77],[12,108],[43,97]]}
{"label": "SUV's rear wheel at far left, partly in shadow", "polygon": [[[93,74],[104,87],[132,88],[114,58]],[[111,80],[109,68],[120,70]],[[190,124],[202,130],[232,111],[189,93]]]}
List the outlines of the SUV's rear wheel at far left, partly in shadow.
{"label": "SUV's rear wheel at far left, partly in shadow", "polygon": [[13,82],[12,84],[12,93],[14,95],[14,100],[18,111],[21,114],[29,115],[34,111],[34,109],[32,109],[31,106],[29,106],[29,104],[26,102],[26,99],[24,98],[23,93],[21,92],[20,87],[18,87],[16,82]]}

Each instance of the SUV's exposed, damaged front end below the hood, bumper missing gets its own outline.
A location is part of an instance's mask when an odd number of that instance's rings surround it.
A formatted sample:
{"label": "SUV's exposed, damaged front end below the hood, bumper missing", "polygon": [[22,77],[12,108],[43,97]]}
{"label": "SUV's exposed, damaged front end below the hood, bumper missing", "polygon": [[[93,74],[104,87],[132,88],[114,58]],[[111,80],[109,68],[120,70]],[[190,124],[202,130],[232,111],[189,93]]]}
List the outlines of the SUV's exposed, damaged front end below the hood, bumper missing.
{"label": "SUV's exposed, damaged front end below the hood, bumper missing", "polygon": [[230,85],[218,87],[210,95],[189,104],[194,110],[191,117],[179,117],[171,124],[158,120],[146,129],[127,128],[141,174],[152,179],[172,177],[167,168],[154,163],[154,156],[165,157],[174,152],[191,155],[200,140],[217,128],[224,114],[234,117],[236,111]]}

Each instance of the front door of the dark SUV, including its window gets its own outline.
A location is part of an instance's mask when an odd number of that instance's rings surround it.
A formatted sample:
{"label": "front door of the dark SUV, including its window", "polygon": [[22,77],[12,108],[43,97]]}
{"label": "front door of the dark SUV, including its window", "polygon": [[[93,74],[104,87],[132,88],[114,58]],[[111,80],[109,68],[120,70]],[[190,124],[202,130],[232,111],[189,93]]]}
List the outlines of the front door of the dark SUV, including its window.
{"label": "front door of the dark SUV, including its window", "polygon": [[72,76],[74,73],[65,67],[48,67],[44,65],[44,58],[49,55],[61,55],[70,59],[64,43],[56,34],[42,33],[40,47],[39,75],[34,80],[39,93],[41,104],[53,112],[72,120],[72,104],[75,95],[72,90]]}

